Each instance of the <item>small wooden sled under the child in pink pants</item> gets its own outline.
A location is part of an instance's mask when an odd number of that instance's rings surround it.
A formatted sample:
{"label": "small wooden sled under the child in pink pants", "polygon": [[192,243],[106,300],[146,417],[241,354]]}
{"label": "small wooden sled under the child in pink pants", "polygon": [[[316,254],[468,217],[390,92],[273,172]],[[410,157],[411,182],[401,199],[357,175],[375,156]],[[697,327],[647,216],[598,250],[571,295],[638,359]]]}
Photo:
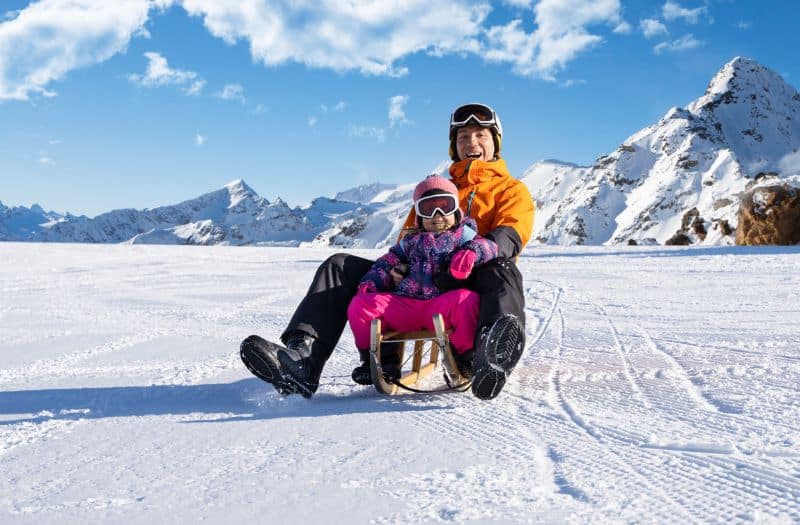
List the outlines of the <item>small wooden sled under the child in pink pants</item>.
{"label": "small wooden sled under the child in pink pants", "polygon": [[[440,392],[445,390],[465,390],[469,386],[470,380],[462,376],[458,371],[453,349],[450,347],[448,333],[444,328],[442,314],[433,316],[434,331],[421,330],[417,332],[386,332],[381,330],[381,320],[373,319],[370,332],[370,372],[372,374],[372,384],[378,392],[393,395],[402,391],[407,392]],[[407,369],[405,357],[406,342],[414,343],[414,352],[410,358],[411,367]],[[403,363],[400,379],[397,382],[389,382],[383,375],[381,367],[381,344],[400,343],[400,362]],[[426,348],[427,345],[427,348]],[[426,358],[427,354],[427,360]],[[417,387],[418,383],[431,375],[439,365],[441,357],[444,365],[446,381],[448,386],[435,390],[421,390]],[[423,361],[426,361],[423,363]]]}

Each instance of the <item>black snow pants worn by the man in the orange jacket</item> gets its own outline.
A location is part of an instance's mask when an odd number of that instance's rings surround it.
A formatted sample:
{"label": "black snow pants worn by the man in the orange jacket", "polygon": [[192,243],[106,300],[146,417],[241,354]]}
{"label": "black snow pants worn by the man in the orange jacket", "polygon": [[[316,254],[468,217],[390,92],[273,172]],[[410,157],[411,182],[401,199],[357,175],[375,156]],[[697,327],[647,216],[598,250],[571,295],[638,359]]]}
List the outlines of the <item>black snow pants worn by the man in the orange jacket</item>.
{"label": "black snow pants worn by the man in the orange jacket", "polygon": [[[328,360],[347,324],[347,307],[358,290],[358,283],[374,261],[346,253],[326,259],[317,269],[311,286],[289,321],[281,340],[302,331],[317,338],[312,359]],[[514,314],[525,323],[525,297],[522,274],[511,259],[498,258],[480,266],[466,283],[480,295],[478,327],[494,323],[503,314]],[[476,334],[477,342],[477,334]]]}

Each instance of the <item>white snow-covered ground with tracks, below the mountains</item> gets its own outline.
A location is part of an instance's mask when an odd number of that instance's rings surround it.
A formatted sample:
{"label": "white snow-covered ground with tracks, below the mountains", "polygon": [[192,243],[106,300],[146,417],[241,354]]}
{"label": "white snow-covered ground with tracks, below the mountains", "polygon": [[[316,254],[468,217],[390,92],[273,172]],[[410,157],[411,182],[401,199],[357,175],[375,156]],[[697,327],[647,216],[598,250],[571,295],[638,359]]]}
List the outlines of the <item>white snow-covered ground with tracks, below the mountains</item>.
{"label": "white snow-covered ground with tracks, below the mountains", "polygon": [[0,522],[800,521],[800,247],[530,248],[494,401],[356,386],[348,332],[282,398],[238,342],[330,253],[0,244]]}

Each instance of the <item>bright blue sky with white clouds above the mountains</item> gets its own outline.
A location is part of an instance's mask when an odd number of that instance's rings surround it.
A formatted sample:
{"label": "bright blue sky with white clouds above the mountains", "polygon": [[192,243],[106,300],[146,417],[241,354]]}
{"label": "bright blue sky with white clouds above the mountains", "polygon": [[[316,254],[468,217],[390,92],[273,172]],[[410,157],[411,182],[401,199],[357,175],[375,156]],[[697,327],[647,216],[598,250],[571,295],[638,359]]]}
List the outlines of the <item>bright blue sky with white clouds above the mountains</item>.
{"label": "bright blue sky with white clouds above the mountains", "polygon": [[500,114],[512,174],[589,164],[735,56],[796,87],[800,3],[0,1],[0,201],[76,214],[242,178],[290,205],[447,159]]}

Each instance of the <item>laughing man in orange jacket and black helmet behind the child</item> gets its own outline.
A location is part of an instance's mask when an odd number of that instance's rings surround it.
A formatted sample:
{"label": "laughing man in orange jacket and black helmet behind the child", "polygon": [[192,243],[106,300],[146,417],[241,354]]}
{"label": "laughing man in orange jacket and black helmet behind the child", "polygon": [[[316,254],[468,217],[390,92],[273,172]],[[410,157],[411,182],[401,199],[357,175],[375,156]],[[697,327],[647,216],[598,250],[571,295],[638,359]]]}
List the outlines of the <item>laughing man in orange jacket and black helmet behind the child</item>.
{"label": "laughing man in orange jacket and black helmet behind the child", "polygon": [[[514,262],[533,231],[534,206],[523,183],[509,175],[500,158],[503,128],[492,108],[467,104],[450,117],[450,176],[461,209],[478,224],[478,233],[498,246],[499,257],[475,269],[467,280],[443,278],[440,288],[469,287],[480,295],[473,355],[459,368],[472,375],[472,393],[495,398],[522,356],[525,299],[522,275]],[[406,226],[416,223],[414,210]],[[311,397],[347,323],[347,307],[359,281],[374,261],[336,254],[320,265],[306,296],[281,335],[285,347],[258,336],[242,342],[241,357],[257,377],[284,395]]]}

